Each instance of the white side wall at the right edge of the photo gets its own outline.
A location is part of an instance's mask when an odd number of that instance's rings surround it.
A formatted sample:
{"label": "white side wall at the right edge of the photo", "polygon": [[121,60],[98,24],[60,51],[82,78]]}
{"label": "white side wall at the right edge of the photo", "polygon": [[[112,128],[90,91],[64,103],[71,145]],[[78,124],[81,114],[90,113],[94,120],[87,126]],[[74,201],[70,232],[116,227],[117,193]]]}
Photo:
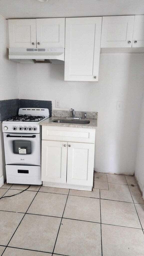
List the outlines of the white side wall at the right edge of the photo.
{"label": "white side wall at the right edge of the photo", "polygon": [[141,121],[138,135],[135,177],[144,196],[144,98],[141,110]]}

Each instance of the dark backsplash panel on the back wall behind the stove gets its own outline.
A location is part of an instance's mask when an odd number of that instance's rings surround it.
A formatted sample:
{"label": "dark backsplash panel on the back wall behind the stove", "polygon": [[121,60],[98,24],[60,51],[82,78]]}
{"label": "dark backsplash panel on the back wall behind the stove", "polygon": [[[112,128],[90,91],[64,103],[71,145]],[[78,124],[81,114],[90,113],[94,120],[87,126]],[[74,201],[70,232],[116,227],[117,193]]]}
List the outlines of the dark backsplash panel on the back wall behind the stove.
{"label": "dark backsplash panel on the back wall behind the stove", "polygon": [[48,100],[19,100],[20,108],[44,108],[49,109],[50,117],[52,114],[52,102]]}

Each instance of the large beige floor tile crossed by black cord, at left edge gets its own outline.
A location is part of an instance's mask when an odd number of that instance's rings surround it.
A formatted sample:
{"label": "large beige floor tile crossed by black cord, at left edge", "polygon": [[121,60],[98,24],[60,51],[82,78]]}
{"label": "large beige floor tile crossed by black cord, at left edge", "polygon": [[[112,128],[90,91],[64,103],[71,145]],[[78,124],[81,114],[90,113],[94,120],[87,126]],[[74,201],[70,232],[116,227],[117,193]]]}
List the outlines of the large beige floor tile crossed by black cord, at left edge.
{"label": "large beige floor tile crossed by black cord, at left edge", "polygon": [[[19,192],[21,190],[9,189],[5,196],[14,195]],[[0,200],[0,210],[26,212],[36,193],[35,191],[24,191],[19,195],[3,198]]]}

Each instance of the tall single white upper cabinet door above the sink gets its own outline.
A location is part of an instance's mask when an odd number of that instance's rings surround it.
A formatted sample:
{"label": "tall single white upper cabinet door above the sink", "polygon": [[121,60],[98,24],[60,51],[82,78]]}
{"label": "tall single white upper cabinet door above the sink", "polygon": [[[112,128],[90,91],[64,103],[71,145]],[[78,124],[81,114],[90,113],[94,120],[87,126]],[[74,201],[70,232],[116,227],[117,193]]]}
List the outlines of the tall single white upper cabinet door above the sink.
{"label": "tall single white upper cabinet door above the sink", "polygon": [[102,17],[65,19],[65,81],[98,81]]}

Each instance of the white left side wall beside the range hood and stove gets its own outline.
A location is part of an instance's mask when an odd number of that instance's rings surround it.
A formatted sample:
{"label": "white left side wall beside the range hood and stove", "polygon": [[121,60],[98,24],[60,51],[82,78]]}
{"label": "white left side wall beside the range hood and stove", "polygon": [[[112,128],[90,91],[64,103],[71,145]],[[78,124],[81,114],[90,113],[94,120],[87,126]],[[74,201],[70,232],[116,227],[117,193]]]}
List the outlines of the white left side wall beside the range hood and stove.
{"label": "white left side wall beside the range hood and stove", "polygon": [[[17,64],[8,60],[6,20],[0,15],[0,100],[18,98]],[[0,124],[0,177],[5,175],[2,124]]]}

